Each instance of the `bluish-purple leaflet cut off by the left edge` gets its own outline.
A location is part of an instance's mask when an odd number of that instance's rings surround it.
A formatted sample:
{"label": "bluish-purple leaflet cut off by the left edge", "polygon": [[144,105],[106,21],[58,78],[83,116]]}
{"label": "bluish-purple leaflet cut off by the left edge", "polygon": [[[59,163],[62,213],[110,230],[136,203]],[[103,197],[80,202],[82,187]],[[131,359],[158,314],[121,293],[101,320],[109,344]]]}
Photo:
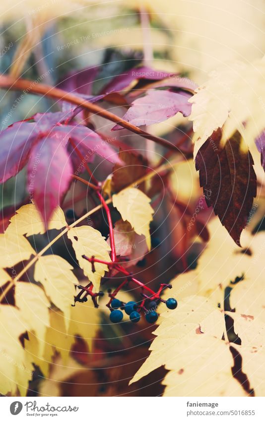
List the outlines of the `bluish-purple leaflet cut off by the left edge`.
{"label": "bluish-purple leaflet cut off by the left edge", "polygon": [[17,122],[0,133],[0,182],[14,177],[26,165],[36,123]]}

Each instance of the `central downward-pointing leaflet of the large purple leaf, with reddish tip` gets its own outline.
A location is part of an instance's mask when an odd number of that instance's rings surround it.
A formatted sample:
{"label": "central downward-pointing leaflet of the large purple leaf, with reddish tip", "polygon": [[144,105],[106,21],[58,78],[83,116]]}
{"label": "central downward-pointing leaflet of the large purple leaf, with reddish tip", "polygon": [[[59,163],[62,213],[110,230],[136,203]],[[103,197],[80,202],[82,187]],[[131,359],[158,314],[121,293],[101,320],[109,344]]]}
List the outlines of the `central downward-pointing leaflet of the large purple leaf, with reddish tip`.
{"label": "central downward-pointing leaflet of the large purple leaf, with reddish tip", "polygon": [[71,182],[72,164],[58,135],[42,139],[28,162],[28,191],[47,224]]}

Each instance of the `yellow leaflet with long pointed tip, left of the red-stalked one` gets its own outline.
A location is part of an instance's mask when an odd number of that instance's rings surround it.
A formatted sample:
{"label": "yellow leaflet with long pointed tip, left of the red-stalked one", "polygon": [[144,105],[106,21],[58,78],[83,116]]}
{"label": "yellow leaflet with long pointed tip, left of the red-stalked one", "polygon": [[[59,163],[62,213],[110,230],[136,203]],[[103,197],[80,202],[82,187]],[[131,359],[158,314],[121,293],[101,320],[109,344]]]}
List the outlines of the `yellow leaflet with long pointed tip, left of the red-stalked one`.
{"label": "yellow leaflet with long pointed tip, left of the red-stalked one", "polygon": [[67,327],[75,295],[74,285],[78,284],[72,269],[65,259],[52,254],[41,256],[35,265],[34,272],[35,280],[44,286],[47,296],[65,313]]}

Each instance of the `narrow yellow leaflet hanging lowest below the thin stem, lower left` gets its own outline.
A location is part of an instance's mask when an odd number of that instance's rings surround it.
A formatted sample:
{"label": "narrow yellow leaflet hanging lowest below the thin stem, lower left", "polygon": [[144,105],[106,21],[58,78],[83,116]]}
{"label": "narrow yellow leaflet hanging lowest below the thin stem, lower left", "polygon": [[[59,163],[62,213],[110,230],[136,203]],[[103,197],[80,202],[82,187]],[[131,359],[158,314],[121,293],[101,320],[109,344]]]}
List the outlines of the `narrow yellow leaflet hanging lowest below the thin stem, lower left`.
{"label": "narrow yellow leaflet hanging lowest below the thin stem, lower left", "polygon": [[50,301],[44,291],[30,282],[17,282],[15,287],[15,302],[20,308],[23,318],[34,331],[39,341],[39,353],[43,354],[45,347],[46,327],[50,324]]}

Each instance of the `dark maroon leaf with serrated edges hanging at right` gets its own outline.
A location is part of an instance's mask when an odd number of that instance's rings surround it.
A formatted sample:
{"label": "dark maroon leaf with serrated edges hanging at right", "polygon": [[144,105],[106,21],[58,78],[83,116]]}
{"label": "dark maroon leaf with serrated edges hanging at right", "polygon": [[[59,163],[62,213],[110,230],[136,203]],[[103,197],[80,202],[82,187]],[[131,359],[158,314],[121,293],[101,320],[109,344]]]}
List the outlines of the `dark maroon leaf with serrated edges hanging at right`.
{"label": "dark maroon leaf with serrated edges hanging at right", "polygon": [[222,225],[240,245],[240,235],[256,196],[257,179],[251,153],[243,150],[240,133],[236,132],[224,147],[221,137],[218,129],[200,147],[196,169],[207,206],[213,207]]}

